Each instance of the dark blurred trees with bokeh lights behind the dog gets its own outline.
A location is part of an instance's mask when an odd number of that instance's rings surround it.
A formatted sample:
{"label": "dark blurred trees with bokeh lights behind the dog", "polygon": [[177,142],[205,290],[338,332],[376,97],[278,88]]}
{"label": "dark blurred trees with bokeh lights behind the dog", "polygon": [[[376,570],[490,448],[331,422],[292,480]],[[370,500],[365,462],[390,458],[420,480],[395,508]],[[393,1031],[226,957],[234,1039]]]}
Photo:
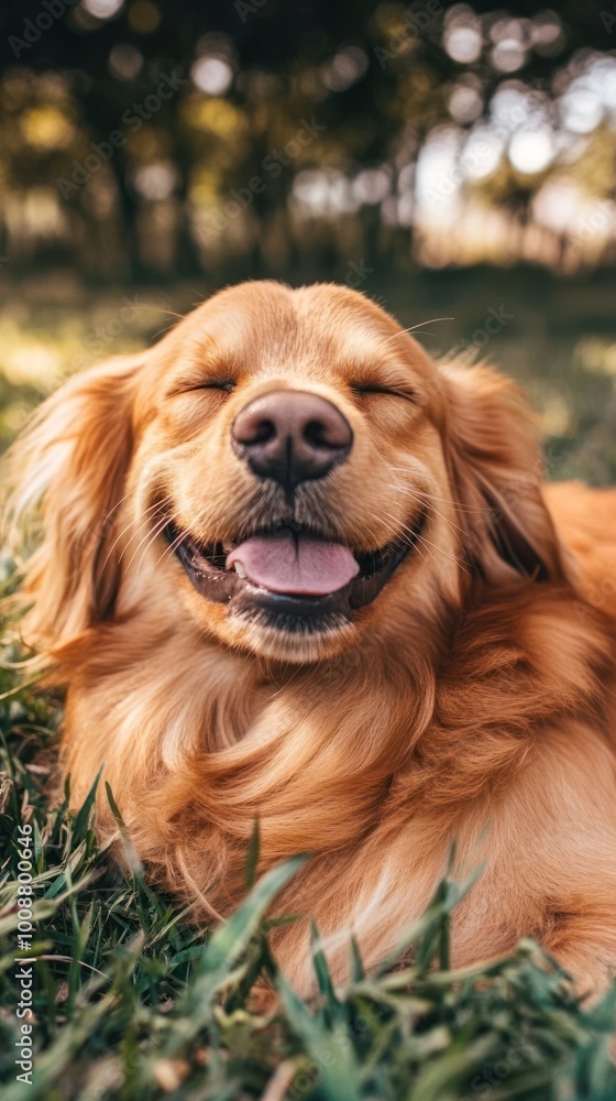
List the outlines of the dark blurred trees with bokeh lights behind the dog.
{"label": "dark blurred trees with bokeh lights behind the dog", "polygon": [[[603,127],[585,187],[613,201],[608,22],[594,0],[11,0],[0,252],[142,280],[405,262],[447,197],[418,186],[439,135],[446,183],[524,222]],[[466,172],[482,127],[499,148]]]}

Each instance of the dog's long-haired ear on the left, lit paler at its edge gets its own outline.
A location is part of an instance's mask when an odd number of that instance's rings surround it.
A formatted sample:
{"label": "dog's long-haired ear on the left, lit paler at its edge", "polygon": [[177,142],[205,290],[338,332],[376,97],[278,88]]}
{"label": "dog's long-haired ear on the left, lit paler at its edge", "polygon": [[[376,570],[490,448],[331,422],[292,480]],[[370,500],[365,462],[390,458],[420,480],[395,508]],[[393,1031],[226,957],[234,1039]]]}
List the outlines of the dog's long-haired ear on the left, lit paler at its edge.
{"label": "dog's long-haired ear on the left, lit paler at its edge", "polygon": [[113,604],[142,362],[122,357],[69,379],[12,448],[10,537],[24,549],[25,635],[38,646],[75,640]]}

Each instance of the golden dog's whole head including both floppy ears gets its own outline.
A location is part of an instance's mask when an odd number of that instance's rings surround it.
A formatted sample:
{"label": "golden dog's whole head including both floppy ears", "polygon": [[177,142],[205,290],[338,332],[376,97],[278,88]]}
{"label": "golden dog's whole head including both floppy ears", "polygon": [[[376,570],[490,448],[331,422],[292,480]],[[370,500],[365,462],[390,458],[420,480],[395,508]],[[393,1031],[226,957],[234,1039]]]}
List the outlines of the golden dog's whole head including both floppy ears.
{"label": "golden dog's whole head including both floppy ears", "polygon": [[70,556],[65,620],[67,600],[90,625],[146,601],[302,663],[373,628],[399,637],[472,569],[559,569],[507,384],[444,371],[343,287],[227,290],[53,403],[31,465],[46,465],[50,573]]}

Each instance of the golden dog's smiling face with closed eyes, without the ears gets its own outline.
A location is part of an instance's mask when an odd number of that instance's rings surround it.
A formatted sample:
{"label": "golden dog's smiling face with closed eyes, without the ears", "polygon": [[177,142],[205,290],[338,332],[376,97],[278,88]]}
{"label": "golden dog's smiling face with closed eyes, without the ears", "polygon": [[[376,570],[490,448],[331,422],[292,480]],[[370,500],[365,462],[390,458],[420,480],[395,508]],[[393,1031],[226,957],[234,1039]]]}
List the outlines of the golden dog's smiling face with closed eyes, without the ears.
{"label": "golden dog's smiling face with closed eyes, without the ears", "polygon": [[155,358],[138,515],[204,629],[302,662],[356,641],[385,587],[408,604],[422,566],[453,592],[441,380],[382,310],[339,287],[249,284]]}

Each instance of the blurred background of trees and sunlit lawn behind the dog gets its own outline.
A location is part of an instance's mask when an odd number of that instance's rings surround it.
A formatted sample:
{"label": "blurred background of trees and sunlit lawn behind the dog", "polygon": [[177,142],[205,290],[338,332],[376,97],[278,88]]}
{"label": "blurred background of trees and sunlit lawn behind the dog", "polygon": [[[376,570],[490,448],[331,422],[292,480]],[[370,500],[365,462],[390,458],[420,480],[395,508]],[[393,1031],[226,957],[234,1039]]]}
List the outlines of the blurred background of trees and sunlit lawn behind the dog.
{"label": "blurred background of trees and sunlit lawn behind the dog", "polygon": [[336,280],[616,477],[616,2],[0,11],[0,440],[226,283]]}

